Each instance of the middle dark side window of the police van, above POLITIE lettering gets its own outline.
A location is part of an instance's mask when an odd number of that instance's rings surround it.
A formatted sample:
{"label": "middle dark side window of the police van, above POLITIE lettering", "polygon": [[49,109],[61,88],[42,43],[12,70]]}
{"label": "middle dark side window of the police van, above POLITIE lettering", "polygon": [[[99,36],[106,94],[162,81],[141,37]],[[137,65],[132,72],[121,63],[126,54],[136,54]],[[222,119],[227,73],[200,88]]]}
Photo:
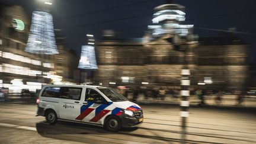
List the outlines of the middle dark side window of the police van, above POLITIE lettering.
{"label": "middle dark side window of the police van, above POLITIE lettering", "polygon": [[80,100],[82,88],[62,87],[60,98]]}

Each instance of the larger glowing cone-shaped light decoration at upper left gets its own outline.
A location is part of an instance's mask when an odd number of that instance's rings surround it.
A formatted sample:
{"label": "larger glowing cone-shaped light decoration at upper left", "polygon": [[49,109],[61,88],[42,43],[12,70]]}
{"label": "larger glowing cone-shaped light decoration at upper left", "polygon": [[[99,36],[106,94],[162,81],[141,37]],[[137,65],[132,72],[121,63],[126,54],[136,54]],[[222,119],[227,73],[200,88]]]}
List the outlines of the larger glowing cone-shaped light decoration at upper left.
{"label": "larger glowing cone-shaped light decoration at upper left", "polygon": [[53,29],[53,17],[42,11],[34,11],[30,35],[28,36],[25,52],[55,55],[58,54]]}

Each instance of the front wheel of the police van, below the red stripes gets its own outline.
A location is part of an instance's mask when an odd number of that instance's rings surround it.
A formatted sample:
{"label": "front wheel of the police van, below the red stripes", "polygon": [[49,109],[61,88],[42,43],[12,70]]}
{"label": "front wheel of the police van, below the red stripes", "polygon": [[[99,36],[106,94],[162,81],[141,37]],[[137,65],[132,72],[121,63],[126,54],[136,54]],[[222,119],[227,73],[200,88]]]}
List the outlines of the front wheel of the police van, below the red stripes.
{"label": "front wheel of the police van, below the red stripes", "polygon": [[116,116],[109,116],[104,123],[105,130],[117,132],[121,129],[121,121]]}

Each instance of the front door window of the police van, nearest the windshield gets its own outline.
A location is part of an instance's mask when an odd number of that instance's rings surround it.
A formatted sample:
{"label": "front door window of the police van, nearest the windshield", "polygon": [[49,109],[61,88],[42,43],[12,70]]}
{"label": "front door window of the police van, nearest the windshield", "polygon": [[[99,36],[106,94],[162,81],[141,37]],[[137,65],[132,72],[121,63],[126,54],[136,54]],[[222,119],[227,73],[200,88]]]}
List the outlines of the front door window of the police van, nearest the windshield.
{"label": "front door window of the police van, nearest the windshield", "polygon": [[106,100],[94,89],[87,88],[85,93],[85,101],[92,101],[94,103],[105,103]]}

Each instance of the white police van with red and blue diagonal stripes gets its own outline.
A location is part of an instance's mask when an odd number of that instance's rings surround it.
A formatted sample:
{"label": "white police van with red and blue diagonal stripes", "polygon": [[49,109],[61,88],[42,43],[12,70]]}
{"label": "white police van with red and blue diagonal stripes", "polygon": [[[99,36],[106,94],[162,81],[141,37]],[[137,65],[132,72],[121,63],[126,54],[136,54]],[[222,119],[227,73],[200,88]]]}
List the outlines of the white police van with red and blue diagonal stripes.
{"label": "white police van with red and blue diagonal stripes", "polygon": [[37,104],[37,116],[46,117],[50,124],[57,120],[77,121],[116,132],[143,122],[142,107],[108,87],[44,85]]}

